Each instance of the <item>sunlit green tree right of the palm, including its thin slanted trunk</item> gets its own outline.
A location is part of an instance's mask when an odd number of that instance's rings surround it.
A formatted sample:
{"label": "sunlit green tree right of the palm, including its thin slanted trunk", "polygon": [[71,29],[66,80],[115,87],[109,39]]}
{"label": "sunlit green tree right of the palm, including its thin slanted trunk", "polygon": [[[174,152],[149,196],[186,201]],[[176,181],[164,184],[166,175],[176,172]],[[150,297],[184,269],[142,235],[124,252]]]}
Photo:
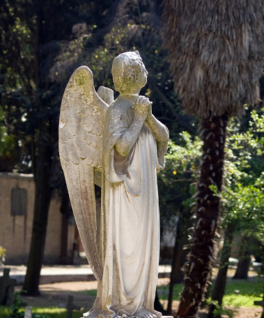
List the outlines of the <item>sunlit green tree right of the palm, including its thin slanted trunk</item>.
{"label": "sunlit green tree right of the palm, including its thin slanted trunk", "polygon": [[[223,201],[224,246],[220,267],[212,291],[212,300],[222,305],[228,259],[231,256],[232,240],[235,234],[249,240],[255,236],[260,240],[263,227],[264,196],[261,189],[263,173],[263,110],[252,110],[248,124],[232,120],[231,132],[226,146],[226,185],[221,194]],[[244,126],[246,130],[244,130]],[[262,136],[261,136],[262,135]],[[256,181],[257,180],[257,181]],[[254,231],[252,231],[254,229]],[[252,248],[247,243],[248,248]],[[210,305],[208,317],[212,317],[215,305]]]}

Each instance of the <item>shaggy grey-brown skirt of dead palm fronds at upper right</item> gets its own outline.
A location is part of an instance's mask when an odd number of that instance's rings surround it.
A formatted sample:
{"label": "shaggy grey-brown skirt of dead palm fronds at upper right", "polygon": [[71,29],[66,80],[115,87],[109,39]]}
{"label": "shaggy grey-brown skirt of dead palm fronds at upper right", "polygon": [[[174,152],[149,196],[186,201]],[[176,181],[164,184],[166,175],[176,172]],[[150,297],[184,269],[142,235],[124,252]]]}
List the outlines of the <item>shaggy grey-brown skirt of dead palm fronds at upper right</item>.
{"label": "shaggy grey-brown skirt of dead palm fronds at upper right", "polygon": [[241,115],[259,101],[263,0],[164,0],[164,44],[176,92],[201,118]]}

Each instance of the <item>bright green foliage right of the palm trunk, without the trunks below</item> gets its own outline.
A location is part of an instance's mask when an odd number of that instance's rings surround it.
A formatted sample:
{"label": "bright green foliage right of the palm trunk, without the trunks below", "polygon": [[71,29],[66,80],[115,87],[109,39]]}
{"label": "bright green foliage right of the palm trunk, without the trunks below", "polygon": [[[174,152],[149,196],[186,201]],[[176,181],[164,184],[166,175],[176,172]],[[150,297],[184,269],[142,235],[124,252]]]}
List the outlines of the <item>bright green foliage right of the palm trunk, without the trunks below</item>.
{"label": "bright green foliage right of the palm trunk, without the trunks below", "polygon": [[[222,226],[235,224],[236,232],[264,243],[264,109],[247,111],[244,122],[231,120],[226,142],[225,185],[220,195]],[[254,231],[252,231],[254,229]]]}

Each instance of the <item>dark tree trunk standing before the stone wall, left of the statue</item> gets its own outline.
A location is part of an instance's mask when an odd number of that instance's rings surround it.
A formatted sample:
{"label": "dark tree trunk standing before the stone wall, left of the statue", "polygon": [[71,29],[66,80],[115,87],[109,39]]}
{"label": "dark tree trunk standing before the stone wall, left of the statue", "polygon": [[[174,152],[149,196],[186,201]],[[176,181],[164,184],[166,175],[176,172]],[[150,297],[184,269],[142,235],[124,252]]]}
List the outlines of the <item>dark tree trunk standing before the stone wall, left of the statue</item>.
{"label": "dark tree trunk standing before the stone wall, left of the statue", "polygon": [[52,191],[49,185],[52,154],[50,147],[45,146],[41,142],[39,144],[34,173],[36,189],[33,229],[26,277],[23,285],[23,290],[26,291],[25,294],[29,296],[38,296],[40,294],[38,284],[40,282],[40,270],[45,249],[49,203],[52,198]]}

